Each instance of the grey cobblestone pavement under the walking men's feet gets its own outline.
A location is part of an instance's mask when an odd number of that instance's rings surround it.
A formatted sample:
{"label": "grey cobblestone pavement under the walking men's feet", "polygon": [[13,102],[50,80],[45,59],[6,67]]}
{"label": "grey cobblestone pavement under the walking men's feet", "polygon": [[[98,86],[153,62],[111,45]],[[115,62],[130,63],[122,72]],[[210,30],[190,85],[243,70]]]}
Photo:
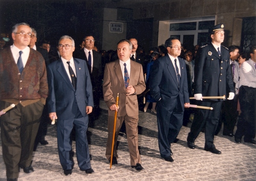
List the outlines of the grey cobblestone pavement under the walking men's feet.
{"label": "grey cobblestone pavement under the walking men's feet", "polygon": [[[130,156],[124,135],[118,137],[118,165],[110,170],[105,158],[108,112],[101,101],[101,112],[94,126],[89,127],[91,165],[94,174],[79,170],[75,160],[72,175],[65,176],[57,152],[56,126],[49,125],[46,146],[38,145],[34,152],[34,172],[26,174],[20,170],[18,180],[256,180],[256,146],[250,143],[237,144],[233,138],[216,136],[215,145],[222,154],[204,151],[204,134],[200,133],[192,150],[186,146],[189,127],[182,127],[179,141],[172,144],[174,162],[160,157],[157,140],[157,119],[150,110],[139,113],[139,149],[142,166],[137,172],[130,166]],[[2,142],[0,142],[2,145]],[[75,151],[75,143],[73,142]],[[6,180],[2,146],[0,148],[0,180]]]}

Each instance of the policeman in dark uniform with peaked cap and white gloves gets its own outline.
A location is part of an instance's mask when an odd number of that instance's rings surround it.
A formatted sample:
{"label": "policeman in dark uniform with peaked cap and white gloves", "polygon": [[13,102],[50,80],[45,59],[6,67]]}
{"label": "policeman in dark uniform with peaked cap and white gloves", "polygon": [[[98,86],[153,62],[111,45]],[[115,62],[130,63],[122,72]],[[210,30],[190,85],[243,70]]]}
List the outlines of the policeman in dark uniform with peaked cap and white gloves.
{"label": "policeman in dark uniform with peaked cap and white gloves", "polygon": [[[234,88],[229,65],[229,51],[221,46],[224,41],[224,25],[217,24],[209,30],[211,43],[199,49],[195,61],[195,95],[197,105],[213,110],[198,109],[187,136],[187,146],[195,149],[195,140],[205,125],[204,150],[221,154],[214,145],[214,133],[218,125],[223,99],[203,99],[204,96],[223,96],[226,89],[229,100],[234,97]],[[226,95],[225,95],[226,96]],[[227,96],[226,96],[227,97]]]}

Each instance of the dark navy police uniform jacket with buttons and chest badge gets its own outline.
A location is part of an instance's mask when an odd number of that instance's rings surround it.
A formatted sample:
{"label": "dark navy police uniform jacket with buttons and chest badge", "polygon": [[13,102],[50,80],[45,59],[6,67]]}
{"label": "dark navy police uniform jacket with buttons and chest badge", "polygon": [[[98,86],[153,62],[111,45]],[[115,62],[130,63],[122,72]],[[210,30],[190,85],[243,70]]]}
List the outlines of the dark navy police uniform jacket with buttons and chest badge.
{"label": "dark navy police uniform jacket with buttons and chest badge", "polygon": [[201,47],[195,61],[195,94],[228,97],[226,90],[234,92],[228,49],[221,46],[219,56],[211,43]]}

